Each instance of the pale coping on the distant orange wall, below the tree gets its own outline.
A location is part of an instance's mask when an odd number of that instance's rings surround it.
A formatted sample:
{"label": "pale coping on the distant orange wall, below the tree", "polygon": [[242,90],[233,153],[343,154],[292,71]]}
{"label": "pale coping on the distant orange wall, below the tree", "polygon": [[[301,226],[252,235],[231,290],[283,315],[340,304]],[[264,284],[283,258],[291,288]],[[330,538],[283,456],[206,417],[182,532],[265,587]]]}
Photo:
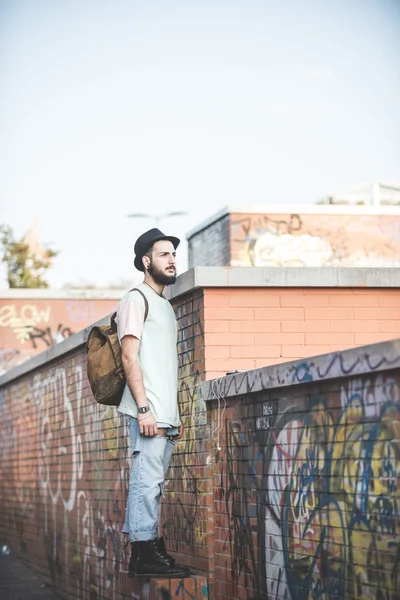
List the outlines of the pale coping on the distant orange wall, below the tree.
{"label": "pale coping on the distant orange wall, below the tree", "polygon": [[0,289],[0,298],[9,298],[10,300],[119,300],[124,295],[125,289],[19,289],[6,288]]}

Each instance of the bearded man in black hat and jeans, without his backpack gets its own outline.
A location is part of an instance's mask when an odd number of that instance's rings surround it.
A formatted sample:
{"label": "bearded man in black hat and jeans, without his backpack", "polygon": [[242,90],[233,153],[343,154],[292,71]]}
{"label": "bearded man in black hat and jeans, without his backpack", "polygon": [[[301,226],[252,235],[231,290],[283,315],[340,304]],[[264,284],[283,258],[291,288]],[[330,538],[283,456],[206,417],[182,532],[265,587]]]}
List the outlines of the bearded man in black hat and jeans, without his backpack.
{"label": "bearded man in black hat and jeans, without his backpack", "polygon": [[150,229],[135,243],[135,267],[143,283],[128,292],[117,308],[118,336],[126,376],[119,411],[126,415],[132,464],[123,532],[132,552],[128,575],[184,577],[163,538],[157,537],[164,477],[176,440],[182,436],[178,409],[176,320],[163,296],[176,281],[180,240]]}

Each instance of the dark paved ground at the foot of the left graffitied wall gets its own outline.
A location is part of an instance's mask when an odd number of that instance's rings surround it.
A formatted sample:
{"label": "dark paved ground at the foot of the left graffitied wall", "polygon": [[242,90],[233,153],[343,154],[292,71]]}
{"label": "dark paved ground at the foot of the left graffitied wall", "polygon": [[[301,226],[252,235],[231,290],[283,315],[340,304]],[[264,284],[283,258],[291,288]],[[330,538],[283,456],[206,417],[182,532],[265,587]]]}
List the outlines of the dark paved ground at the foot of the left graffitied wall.
{"label": "dark paved ground at the foot of the left graffitied wall", "polygon": [[1,600],[60,600],[60,596],[57,596],[36,573],[18,560],[13,552],[8,556],[0,553],[0,598]]}

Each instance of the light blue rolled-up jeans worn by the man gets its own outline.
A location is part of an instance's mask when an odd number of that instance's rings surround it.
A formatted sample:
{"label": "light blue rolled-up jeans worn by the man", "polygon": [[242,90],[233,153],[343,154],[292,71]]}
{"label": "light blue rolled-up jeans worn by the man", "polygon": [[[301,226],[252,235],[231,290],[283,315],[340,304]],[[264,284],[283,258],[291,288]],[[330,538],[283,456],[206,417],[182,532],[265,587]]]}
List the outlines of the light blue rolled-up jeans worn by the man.
{"label": "light blue rolled-up jeans worn by the man", "polygon": [[[164,478],[174,451],[175,441],[168,437],[140,435],[137,419],[126,415],[131,443],[131,471],[128,503],[123,533],[131,542],[154,540],[157,537],[160,499]],[[177,427],[163,427],[167,434],[178,433]]]}

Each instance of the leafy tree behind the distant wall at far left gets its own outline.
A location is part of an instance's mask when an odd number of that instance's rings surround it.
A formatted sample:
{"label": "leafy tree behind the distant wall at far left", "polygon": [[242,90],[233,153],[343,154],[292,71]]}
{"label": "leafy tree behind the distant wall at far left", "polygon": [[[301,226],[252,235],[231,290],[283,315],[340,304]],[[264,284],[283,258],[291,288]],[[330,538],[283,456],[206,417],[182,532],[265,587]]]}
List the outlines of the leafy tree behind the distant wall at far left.
{"label": "leafy tree behind the distant wall at far left", "polygon": [[58,252],[46,247],[40,254],[35,254],[24,238],[16,240],[11,227],[5,225],[0,226],[0,236],[2,261],[7,265],[10,288],[49,287],[44,275]]}

